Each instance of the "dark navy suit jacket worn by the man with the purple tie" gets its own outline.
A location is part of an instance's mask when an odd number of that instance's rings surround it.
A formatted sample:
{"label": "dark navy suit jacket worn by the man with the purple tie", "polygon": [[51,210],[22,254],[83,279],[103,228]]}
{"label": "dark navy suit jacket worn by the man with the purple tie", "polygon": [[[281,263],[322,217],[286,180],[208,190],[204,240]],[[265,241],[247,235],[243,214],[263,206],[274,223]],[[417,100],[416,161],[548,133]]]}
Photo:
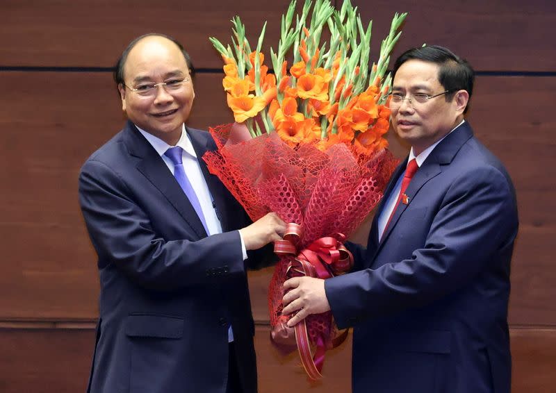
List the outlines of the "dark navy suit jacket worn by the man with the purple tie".
{"label": "dark navy suit jacket worn by the man with the purple tie", "polygon": [[79,200],[98,254],[100,317],[93,393],[222,392],[228,327],[246,392],[256,392],[254,324],[236,229],[243,209],[200,158],[211,136],[188,128],[224,233],[207,237],[162,158],[128,122],[85,162]]}

